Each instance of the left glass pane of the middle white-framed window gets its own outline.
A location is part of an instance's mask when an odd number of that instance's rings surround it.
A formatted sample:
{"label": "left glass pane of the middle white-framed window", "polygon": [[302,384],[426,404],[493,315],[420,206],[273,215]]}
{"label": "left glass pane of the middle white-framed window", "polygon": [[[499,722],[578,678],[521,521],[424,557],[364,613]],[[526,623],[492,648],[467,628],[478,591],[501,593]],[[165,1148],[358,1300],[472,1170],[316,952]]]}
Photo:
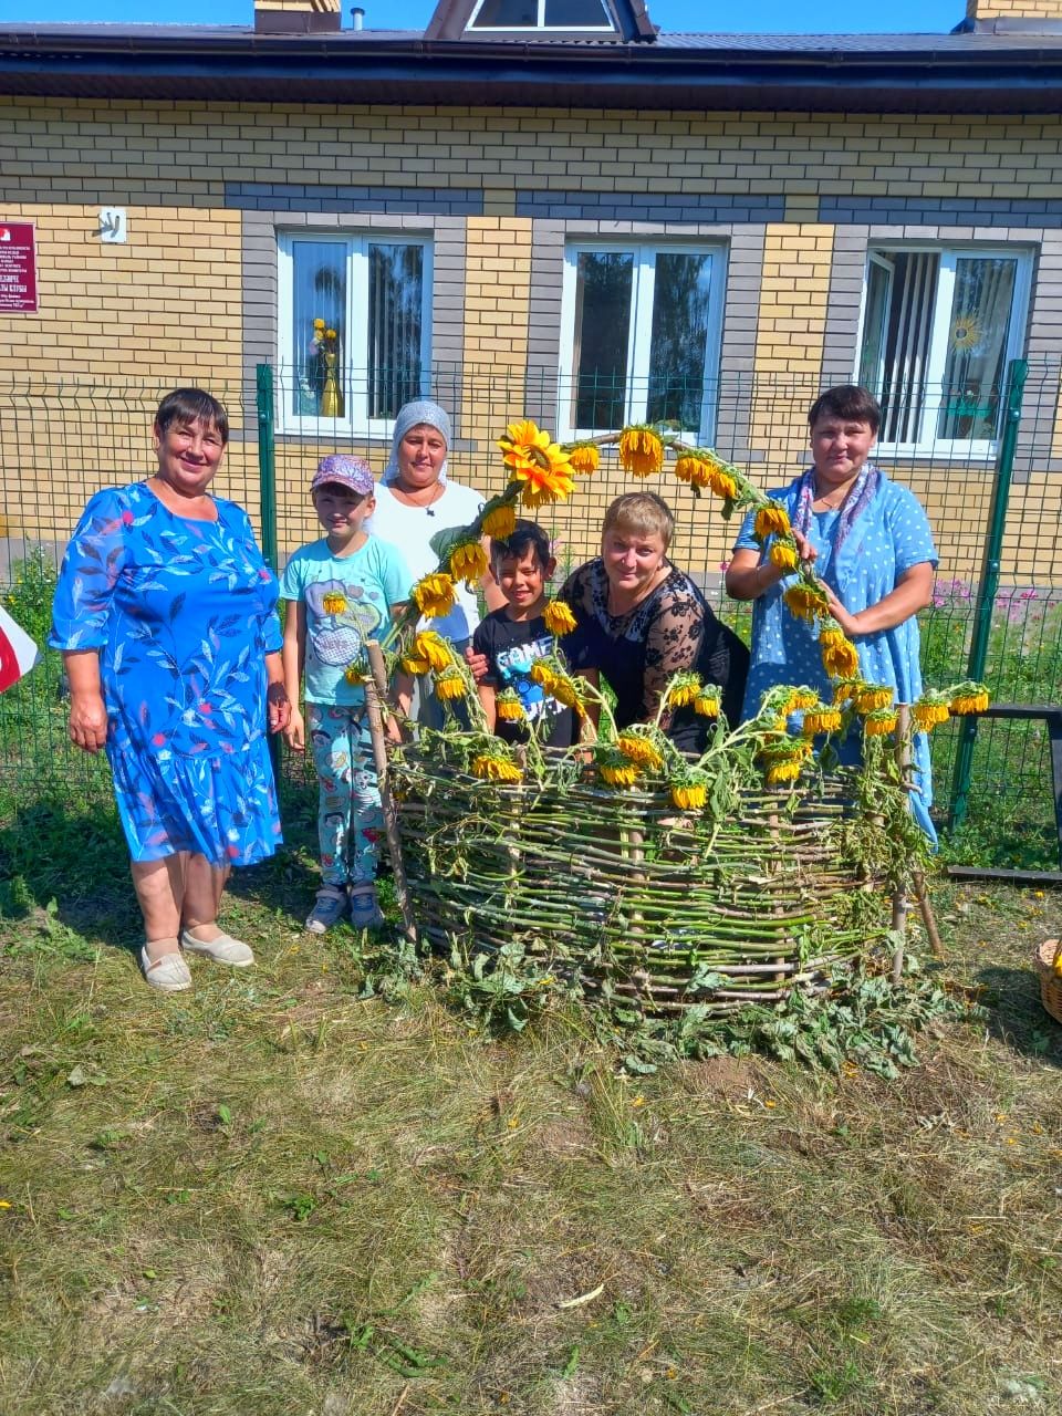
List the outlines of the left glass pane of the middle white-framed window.
{"label": "left glass pane of the middle white-framed window", "polygon": [[619,428],[624,422],[633,276],[634,256],[629,251],[578,255],[575,428]]}

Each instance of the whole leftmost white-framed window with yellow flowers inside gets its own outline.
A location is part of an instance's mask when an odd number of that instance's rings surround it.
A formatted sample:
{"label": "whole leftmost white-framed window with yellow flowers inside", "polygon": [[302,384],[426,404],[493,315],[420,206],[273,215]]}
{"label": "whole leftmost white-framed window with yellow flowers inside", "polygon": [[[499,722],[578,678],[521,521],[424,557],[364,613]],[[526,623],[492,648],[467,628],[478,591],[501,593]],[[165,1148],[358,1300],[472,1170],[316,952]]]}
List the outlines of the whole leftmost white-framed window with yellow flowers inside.
{"label": "whole leftmost white-framed window with yellow flowers inside", "polygon": [[428,241],[282,236],[278,290],[282,426],[370,432],[425,391]]}

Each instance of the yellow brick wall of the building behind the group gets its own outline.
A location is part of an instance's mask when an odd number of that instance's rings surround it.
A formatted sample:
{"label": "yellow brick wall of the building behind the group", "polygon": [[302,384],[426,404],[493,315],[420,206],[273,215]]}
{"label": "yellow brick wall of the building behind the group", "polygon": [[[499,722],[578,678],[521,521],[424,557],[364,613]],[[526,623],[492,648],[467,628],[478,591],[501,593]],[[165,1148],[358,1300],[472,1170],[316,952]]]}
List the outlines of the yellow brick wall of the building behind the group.
{"label": "yellow brick wall of the building behind the group", "polygon": [[[823,353],[833,231],[816,224],[820,195],[1054,200],[1062,190],[1062,118],[0,98],[0,218],[38,224],[41,287],[40,314],[0,316],[0,375],[118,379],[153,395],[160,382],[185,379],[222,396],[238,389],[241,215],[224,208],[225,184],[236,181],[483,191],[487,214],[466,222],[463,355],[476,372],[462,389],[462,430],[487,446],[521,411],[531,222],[513,215],[517,190],[782,195],[786,219],[766,232],[755,368],[796,379],[814,375]],[[95,235],[103,205],[127,208],[126,245]],[[504,408],[487,387],[503,374]],[[753,447],[767,457],[758,474],[765,484],[799,463],[803,402],[801,395],[792,406],[776,405],[755,428]],[[34,413],[28,438],[25,399],[0,406],[0,496],[4,504],[20,498],[34,524],[58,527],[85,489],[136,472],[147,443],[129,429],[99,432],[86,404],[67,416],[54,401],[48,406]],[[782,425],[790,429],[784,457]],[[1062,449],[1062,425],[1056,438]],[[379,446],[370,452],[381,459]],[[289,497],[304,507],[312,462],[306,445],[283,449],[282,510]],[[246,450],[234,443],[228,469],[235,490],[253,489],[253,440]],[[491,469],[483,490],[501,477]],[[596,517],[619,490],[606,472],[583,506]],[[684,508],[683,534],[697,561],[724,559],[732,528],[704,506],[694,508],[688,493],[673,500]],[[961,527],[961,500],[952,506],[954,513],[940,508],[940,515]],[[302,539],[312,523],[302,510],[292,520],[292,539]],[[581,547],[592,544],[593,528],[578,535]]]}

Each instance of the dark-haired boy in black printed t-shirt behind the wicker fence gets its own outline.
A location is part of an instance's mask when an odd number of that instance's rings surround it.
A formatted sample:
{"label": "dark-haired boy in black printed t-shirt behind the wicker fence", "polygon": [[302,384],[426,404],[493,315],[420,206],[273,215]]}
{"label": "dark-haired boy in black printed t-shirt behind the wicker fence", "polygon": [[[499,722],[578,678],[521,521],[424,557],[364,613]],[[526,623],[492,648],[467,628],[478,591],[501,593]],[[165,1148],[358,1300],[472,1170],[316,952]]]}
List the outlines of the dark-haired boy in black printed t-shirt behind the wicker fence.
{"label": "dark-haired boy in black printed t-shirt behind the wicker fence", "polygon": [[[490,568],[507,603],[480,623],[472,640],[473,651],[487,660],[479,684],[487,722],[503,742],[527,742],[528,729],[551,748],[571,748],[578,739],[575,712],[548,698],[531,678],[537,658],[554,653],[556,640],[542,619],[545,586],[556,569],[549,554],[549,537],[534,521],[517,521],[504,541],[491,541]],[[524,719],[498,715],[498,694],[513,690]]]}

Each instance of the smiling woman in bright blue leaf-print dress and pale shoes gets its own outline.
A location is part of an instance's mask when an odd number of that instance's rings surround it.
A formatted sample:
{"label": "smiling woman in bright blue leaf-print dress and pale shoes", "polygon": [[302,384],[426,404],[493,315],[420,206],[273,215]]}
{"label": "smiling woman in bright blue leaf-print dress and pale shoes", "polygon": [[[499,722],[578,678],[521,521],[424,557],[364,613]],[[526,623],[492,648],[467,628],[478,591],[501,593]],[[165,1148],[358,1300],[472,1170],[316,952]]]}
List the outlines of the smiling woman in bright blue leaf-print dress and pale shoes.
{"label": "smiling woman in bright blue leaf-print dress and pale shoes", "polygon": [[159,470],[96,493],[59,573],[71,739],[106,749],[144,918],[149,984],[191,987],[181,952],[242,967],[217,923],[232,865],[272,855],[280,821],[266,729],[289,705],[278,585],[246,513],[208,494],[225,409],[178,388],[159,406]]}

